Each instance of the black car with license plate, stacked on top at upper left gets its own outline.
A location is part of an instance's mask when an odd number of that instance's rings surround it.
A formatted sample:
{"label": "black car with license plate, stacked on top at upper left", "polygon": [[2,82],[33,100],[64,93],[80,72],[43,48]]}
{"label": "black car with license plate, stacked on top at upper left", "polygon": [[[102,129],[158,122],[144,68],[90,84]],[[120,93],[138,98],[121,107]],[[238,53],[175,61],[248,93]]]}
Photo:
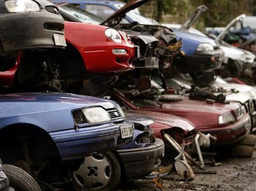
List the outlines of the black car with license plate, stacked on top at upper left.
{"label": "black car with license plate, stacked on top at upper left", "polygon": [[0,71],[13,66],[21,50],[63,48],[64,19],[47,0],[0,1]]}

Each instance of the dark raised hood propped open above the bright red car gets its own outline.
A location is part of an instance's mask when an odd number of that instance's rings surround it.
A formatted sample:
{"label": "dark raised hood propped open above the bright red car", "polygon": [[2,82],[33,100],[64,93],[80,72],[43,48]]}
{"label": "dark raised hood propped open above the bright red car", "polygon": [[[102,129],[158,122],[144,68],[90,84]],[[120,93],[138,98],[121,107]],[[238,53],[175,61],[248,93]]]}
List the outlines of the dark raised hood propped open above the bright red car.
{"label": "dark raised hood propped open above the bright red car", "polygon": [[150,1],[150,0],[133,0],[133,1],[130,1],[125,6],[123,6],[123,8],[119,9],[114,14],[109,16],[109,18],[106,19],[105,21],[103,21],[103,23],[101,23],[101,25],[109,26],[109,27],[116,26],[125,17],[126,13],[128,13],[129,11],[131,11],[135,8],[138,8],[139,6],[141,6],[142,4],[147,3],[148,1]]}

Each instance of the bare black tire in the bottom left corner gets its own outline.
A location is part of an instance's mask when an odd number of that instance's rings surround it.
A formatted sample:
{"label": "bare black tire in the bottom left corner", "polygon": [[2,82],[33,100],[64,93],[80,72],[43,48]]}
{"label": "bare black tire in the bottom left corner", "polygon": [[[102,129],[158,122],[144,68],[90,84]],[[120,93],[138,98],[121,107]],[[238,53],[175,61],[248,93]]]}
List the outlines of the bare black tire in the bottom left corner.
{"label": "bare black tire in the bottom left corner", "polygon": [[3,165],[4,173],[9,178],[10,186],[15,191],[41,191],[38,183],[25,170],[13,165]]}

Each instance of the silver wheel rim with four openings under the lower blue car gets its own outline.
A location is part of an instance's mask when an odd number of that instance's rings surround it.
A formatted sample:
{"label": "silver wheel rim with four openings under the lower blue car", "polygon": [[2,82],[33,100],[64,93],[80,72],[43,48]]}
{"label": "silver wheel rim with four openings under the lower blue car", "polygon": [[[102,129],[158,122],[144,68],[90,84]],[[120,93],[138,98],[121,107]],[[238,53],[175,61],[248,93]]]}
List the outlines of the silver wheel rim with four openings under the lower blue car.
{"label": "silver wheel rim with four openings under the lower blue car", "polygon": [[89,190],[100,190],[105,187],[111,177],[111,163],[102,154],[93,154],[84,158],[84,162],[73,173],[75,182]]}

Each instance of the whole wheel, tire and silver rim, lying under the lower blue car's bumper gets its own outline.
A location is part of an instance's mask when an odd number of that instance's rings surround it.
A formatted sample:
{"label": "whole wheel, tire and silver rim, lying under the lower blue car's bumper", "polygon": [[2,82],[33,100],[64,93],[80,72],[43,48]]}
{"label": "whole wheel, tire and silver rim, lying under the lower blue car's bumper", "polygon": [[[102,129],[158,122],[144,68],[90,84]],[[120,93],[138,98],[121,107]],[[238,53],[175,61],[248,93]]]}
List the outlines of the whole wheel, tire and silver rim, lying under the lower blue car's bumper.
{"label": "whole wheel, tire and silver rim, lying under the lower blue car's bumper", "polygon": [[94,153],[73,173],[75,190],[113,190],[121,179],[118,159],[111,152]]}

